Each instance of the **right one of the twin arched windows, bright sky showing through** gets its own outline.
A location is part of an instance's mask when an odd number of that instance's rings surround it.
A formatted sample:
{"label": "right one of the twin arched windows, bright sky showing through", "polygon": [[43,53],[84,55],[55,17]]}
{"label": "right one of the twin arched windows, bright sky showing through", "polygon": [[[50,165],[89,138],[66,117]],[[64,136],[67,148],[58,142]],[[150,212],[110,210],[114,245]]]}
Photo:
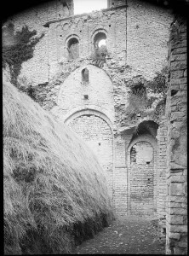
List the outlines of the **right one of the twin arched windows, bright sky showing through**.
{"label": "right one of the twin arched windows, bright sky showing through", "polygon": [[97,58],[105,58],[107,55],[106,34],[99,32],[94,36],[94,52]]}

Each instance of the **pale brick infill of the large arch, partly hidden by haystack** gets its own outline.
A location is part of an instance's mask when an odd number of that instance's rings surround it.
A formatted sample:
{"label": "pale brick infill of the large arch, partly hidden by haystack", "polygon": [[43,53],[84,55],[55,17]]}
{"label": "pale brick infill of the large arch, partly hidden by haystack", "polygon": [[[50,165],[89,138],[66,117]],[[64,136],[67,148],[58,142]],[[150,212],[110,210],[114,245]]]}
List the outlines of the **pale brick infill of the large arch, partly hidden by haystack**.
{"label": "pale brick infill of the large arch, partly hidden by haystack", "polygon": [[113,189],[113,137],[110,125],[94,113],[81,114],[67,122],[67,125],[88,144],[105,170],[109,195]]}

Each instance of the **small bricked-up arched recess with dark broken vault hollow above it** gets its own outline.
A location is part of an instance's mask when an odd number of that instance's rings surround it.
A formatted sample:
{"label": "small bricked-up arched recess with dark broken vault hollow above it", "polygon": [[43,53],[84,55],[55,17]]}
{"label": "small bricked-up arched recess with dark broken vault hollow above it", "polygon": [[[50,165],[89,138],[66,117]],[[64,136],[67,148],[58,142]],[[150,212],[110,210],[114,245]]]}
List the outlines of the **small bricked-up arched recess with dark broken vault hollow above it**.
{"label": "small bricked-up arched recess with dark broken vault hollow above it", "polygon": [[157,214],[157,130],[152,120],[141,122],[127,148],[128,214]]}

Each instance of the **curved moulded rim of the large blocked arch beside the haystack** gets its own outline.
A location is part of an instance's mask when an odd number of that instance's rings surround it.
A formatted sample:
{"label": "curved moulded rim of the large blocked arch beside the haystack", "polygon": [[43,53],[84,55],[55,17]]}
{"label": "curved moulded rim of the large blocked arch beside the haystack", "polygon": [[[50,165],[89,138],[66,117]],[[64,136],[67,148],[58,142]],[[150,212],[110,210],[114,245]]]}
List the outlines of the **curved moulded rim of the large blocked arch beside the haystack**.
{"label": "curved moulded rim of the large blocked arch beside the haystack", "polygon": [[105,113],[100,112],[100,110],[92,109],[92,108],[77,108],[77,110],[72,111],[71,113],[68,113],[65,119],[66,125],[69,125],[70,122],[72,122],[73,119],[76,119],[77,117],[80,117],[82,115],[95,115],[99,117],[100,119],[103,119],[107,125],[110,126],[112,134],[113,134],[113,126],[111,120],[106,116]]}

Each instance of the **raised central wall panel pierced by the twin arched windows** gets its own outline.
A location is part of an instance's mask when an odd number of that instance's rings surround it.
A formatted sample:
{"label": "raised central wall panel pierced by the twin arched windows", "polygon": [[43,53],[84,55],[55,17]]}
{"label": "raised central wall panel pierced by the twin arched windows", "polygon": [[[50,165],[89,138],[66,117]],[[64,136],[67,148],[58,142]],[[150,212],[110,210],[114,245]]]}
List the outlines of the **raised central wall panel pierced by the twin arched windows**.
{"label": "raised central wall panel pierced by the twin arched windows", "polygon": [[94,55],[94,37],[106,35],[108,55],[125,63],[126,51],[126,9],[110,9],[89,15],[76,15],[60,22],[49,23],[50,78],[54,76],[59,63],[69,60],[68,43],[78,40],[79,58]]}

